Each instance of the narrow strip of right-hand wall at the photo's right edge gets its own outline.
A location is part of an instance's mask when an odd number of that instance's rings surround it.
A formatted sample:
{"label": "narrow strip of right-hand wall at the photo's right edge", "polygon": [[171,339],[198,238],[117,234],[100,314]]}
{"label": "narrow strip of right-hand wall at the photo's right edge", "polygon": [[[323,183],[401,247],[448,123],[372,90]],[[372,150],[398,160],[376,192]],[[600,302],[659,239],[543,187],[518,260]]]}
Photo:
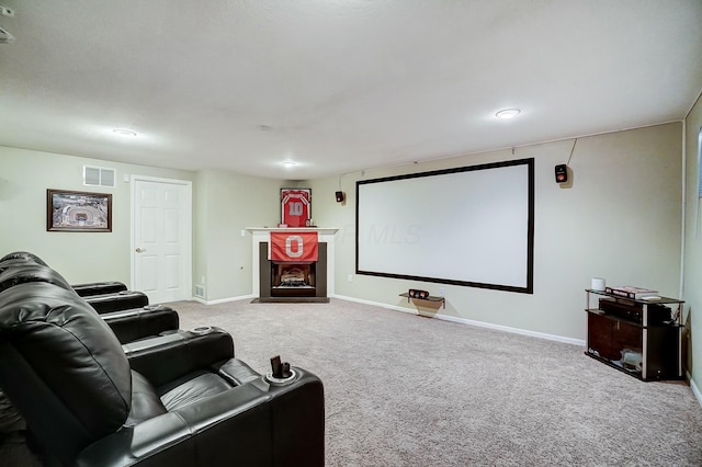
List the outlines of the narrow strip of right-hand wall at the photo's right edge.
{"label": "narrow strip of right-hand wall at the photo's right edge", "polygon": [[702,102],[686,118],[686,232],[683,342],[692,380],[702,388],[702,202],[698,203],[698,135],[702,126]]}

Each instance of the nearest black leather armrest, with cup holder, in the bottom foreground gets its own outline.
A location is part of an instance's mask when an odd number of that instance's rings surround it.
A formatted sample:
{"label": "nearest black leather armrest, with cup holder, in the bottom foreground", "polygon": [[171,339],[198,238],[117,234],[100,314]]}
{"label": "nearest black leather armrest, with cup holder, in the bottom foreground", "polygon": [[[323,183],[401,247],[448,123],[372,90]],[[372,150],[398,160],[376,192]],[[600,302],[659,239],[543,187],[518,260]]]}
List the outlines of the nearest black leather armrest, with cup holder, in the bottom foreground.
{"label": "nearest black leather armrest, with cup holder, in the bottom foreground", "polygon": [[76,464],[324,466],[324,387],[315,375],[294,369],[299,376],[290,385],[261,377],[125,426],[83,449]]}

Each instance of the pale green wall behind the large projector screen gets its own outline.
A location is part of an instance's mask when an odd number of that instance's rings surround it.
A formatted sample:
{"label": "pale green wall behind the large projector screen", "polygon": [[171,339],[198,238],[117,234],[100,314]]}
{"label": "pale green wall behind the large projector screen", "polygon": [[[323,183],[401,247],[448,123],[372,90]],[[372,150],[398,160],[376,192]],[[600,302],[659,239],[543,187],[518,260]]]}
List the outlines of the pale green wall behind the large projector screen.
{"label": "pale green wall behind the large projector screen", "polygon": [[[573,140],[491,151],[401,168],[367,170],[310,183],[318,225],[339,227],[338,296],[408,307],[410,287],[444,289],[449,317],[585,339],[585,292],[593,276],[609,284],[679,295],[681,246],[681,124],[580,138],[570,187],[554,181]],[[485,162],[535,158],[534,294],[354,275],[355,181]],[[347,193],[346,206],[333,192]],[[322,196],[322,202],[319,196]],[[430,195],[430,194],[428,194]],[[461,213],[456,213],[461,215]],[[431,261],[427,251],[426,261]],[[352,282],[348,281],[352,275]]]}

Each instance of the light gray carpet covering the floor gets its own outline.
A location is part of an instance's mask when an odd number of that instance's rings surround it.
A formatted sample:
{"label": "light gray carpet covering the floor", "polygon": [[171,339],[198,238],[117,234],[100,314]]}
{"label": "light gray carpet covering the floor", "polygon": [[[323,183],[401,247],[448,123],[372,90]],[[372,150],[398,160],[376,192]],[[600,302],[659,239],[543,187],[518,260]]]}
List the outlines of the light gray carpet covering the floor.
{"label": "light gray carpet covering the floor", "polygon": [[[578,345],[330,304],[171,304],[325,385],[328,466],[702,466],[702,408]],[[585,318],[584,318],[585,322]]]}

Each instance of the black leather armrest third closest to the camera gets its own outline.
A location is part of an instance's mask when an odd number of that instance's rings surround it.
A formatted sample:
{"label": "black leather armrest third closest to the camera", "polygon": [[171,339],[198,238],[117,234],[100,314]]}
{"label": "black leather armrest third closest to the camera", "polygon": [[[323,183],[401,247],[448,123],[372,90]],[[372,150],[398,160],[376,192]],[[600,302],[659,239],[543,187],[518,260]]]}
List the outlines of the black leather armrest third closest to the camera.
{"label": "black leather armrest third closest to the camera", "polygon": [[178,311],[157,305],[100,315],[115,333],[120,342],[134,342],[157,337],[163,331],[176,331],[180,326]]}

